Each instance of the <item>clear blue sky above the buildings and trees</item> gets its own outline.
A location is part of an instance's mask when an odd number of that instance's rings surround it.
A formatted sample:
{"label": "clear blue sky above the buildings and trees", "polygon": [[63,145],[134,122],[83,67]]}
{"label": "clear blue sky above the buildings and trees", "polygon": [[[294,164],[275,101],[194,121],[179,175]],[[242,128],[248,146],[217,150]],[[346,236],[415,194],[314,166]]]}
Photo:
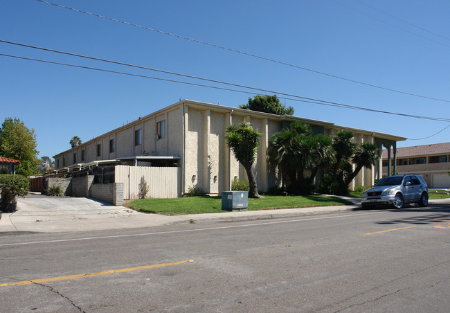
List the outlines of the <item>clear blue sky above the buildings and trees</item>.
{"label": "clear blue sky above the buildings and trees", "polygon": [[[275,93],[450,118],[447,0],[50,2],[329,75],[36,0],[0,1],[0,39]],[[0,53],[213,85],[3,42]],[[34,128],[40,156],[69,149],[75,135],[89,141],[179,99],[237,107],[249,96],[253,94],[0,55],[0,120],[17,117]],[[431,136],[450,125],[448,121],[282,101],[294,107],[295,116],[413,139]],[[398,146],[449,142],[449,135],[450,127],[430,138],[408,140]]]}

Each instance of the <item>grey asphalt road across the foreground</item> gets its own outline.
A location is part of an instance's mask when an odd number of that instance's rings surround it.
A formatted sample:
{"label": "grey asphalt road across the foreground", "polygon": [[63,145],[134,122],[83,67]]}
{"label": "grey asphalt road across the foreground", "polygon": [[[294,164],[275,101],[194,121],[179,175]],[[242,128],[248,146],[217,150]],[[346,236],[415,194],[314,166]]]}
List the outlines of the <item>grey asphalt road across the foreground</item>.
{"label": "grey asphalt road across the foreground", "polygon": [[449,205],[0,235],[0,312],[449,312],[449,278]]}

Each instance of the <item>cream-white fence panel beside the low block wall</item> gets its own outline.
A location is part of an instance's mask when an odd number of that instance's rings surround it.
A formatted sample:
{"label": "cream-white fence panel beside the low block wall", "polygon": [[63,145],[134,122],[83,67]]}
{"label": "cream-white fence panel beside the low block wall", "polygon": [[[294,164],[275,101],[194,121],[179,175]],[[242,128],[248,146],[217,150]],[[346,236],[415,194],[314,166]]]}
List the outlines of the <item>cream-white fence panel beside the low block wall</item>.
{"label": "cream-white fence panel beside the low block wall", "polygon": [[116,166],[116,183],[123,183],[124,199],[139,198],[139,184],[142,177],[149,188],[147,198],[181,196],[181,168]]}

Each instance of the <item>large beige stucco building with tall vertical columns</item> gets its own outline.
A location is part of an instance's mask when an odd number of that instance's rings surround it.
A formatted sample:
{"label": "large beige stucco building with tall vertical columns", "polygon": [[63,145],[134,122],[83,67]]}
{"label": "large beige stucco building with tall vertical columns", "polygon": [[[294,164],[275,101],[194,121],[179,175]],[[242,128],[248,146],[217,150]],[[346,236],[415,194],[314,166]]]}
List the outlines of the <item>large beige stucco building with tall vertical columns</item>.
{"label": "large beige stucco building with tall vertical columns", "polygon": [[[339,129],[348,129],[358,143],[377,144],[380,156],[382,145],[395,147],[397,141],[406,139],[321,120],[181,100],[55,155],[55,167],[57,170],[75,170],[89,164],[114,162],[135,166],[177,166],[181,167],[183,193],[195,186],[206,193],[217,194],[231,190],[234,178],[246,179],[244,168],[235,160],[225,141],[228,125],[246,121],[262,134],[254,171],[258,190],[264,192],[281,184],[277,170],[267,165],[269,138],[295,120],[311,125],[314,133],[327,136]],[[370,186],[381,175],[380,160],[375,168],[361,170],[353,186]]]}

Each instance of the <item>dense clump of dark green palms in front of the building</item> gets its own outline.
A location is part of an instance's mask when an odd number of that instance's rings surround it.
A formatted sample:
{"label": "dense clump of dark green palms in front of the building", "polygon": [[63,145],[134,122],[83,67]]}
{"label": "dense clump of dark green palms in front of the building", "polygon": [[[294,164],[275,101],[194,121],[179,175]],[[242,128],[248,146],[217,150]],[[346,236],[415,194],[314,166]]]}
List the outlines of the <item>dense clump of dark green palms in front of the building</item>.
{"label": "dense clump of dark green palms in front of the building", "polygon": [[[282,173],[282,188],[290,194],[304,195],[312,191],[314,177],[323,168],[330,172],[323,179],[321,191],[345,195],[361,169],[371,168],[379,159],[377,145],[357,144],[353,137],[348,130],[336,132],[332,138],[323,134],[312,136],[309,125],[294,122],[273,134],[267,150],[268,161],[278,166]],[[304,177],[305,170],[309,170],[309,178]]]}

